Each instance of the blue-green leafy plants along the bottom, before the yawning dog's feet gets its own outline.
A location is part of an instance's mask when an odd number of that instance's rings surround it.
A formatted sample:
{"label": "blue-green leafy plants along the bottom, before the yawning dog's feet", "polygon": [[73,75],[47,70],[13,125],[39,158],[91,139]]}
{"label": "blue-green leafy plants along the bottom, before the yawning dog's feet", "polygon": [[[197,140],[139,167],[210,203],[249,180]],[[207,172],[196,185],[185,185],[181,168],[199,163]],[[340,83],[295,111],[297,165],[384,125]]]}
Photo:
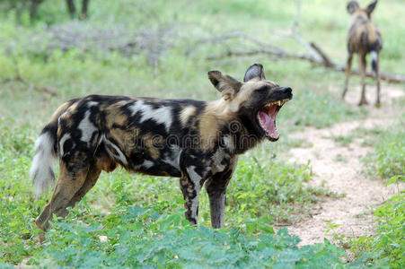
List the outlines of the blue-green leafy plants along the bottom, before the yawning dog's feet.
{"label": "blue-green leafy plants along the bottom, before the yawning dog's feet", "polygon": [[[325,240],[296,247],[299,239],[286,229],[264,226],[260,235],[240,229],[190,227],[182,213],[161,214],[153,208],[129,206],[111,213],[101,224],[69,220],[54,224],[44,247],[30,263],[75,268],[328,268],[345,265],[345,252]],[[259,224],[261,224],[259,222]]]}

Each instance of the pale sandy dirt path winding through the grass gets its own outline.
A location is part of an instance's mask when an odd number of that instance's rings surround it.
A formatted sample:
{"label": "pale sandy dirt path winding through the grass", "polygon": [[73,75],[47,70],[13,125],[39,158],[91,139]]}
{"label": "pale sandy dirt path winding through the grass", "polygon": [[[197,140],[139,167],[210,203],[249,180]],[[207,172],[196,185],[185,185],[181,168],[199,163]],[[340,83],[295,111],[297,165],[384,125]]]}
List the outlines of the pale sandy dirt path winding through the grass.
{"label": "pale sandy dirt path winding through the grass", "polygon": [[[374,101],[374,89],[369,87],[368,100]],[[313,143],[311,148],[295,148],[289,152],[289,161],[306,163],[310,161],[313,169],[313,186],[323,186],[339,195],[338,199],[328,199],[313,211],[312,217],[295,223],[287,229],[302,239],[299,246],[322,242],[326,237],[332,239],[332,234],[325,235],[329,229],[327,222],[339,224],[333,232],[348,237],[360,237],[373,234],[372,209],[382,204],[397,191],[397,187],[384,187],[382,180],[367,178],[361,173],[360,159],[370,147],[361,146],[362,139],[355,139],[347,146],[333,141],[330,136],[351,134],[357,127],[385,128],[392,125],[395,117],[403,112],[403,108],[390,106],[392,101],[404,95],[398,87],[383,87],[383,107],[374,108],[371,105],[369,116],[363,120],[339,123],[330,128],[305,128],[303,132],[291,134],[292,138],[304,138]],[[359,92],[349,92],[347,100],[359,99]],[[333,241],[333,240],[332,240]]]}

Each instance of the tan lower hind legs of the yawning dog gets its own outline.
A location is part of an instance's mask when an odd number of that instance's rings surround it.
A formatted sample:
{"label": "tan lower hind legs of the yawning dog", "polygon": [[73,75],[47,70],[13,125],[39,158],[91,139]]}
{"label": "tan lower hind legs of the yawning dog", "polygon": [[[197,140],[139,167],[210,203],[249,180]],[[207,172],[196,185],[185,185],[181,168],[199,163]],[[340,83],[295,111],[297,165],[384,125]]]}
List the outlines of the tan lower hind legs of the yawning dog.
{"label": "tan lower hind legs of the yawning dog", "polygon": [[59,161],[59,163],[60,172],[52,198],[36,220],[37,226],[42,230],[48,230],[48,221],[53,213],[57,214],[58,217],[66,216],[68,213],[66,207],[80,188],[83,187],[90,167],[88,165],[68,171],[64,161]]}

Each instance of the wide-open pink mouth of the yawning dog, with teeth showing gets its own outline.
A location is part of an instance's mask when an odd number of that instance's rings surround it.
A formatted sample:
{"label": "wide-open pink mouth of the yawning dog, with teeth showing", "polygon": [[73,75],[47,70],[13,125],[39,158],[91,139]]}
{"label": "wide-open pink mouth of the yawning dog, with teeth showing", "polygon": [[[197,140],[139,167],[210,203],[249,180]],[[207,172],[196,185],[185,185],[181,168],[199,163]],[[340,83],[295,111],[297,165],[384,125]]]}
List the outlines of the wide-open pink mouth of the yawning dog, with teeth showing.
{"label": "wide-open pink mouth of the yawning dog, with teeth showing", "polygon": [[280,110],[286,101],[288,100],[286,99],[269,102],[258,111],[257,117],[260,127],[263,129],[266,137],[270,141],[277,141],[278,137],[280,137],[280,134],[277,133],[276,128],[276,116],[278,110]]}

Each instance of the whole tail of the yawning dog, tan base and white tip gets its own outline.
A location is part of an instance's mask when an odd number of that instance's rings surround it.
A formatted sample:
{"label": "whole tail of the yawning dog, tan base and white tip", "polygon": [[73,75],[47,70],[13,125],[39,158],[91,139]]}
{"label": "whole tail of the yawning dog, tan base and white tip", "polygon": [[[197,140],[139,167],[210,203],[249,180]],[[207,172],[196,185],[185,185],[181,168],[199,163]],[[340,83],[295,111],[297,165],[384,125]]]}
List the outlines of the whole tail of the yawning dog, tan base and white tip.
{"label": "whole tail of the yawning dog, tan base and white tip", "polygon": [[34,193],[40,197],[53,185],[55,172],[54,162],[57,160],[57,123],[58,118],[72,105],[66,102],[52,115],[49,123],[42,129],[35,142],[35,156],[32,160],[30,176],[34,185]]}

